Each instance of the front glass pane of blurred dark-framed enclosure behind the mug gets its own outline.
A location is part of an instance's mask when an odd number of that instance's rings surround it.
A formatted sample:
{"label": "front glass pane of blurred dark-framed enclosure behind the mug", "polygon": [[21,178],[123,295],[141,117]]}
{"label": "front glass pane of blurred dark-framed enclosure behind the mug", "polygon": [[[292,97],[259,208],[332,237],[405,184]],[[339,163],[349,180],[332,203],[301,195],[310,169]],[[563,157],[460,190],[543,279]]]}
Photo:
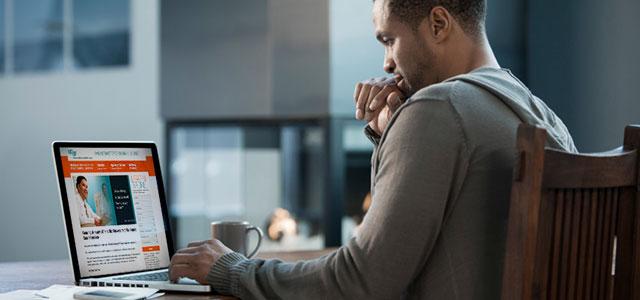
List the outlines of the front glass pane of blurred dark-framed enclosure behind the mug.
{"label": "front glass pane of blurred dark-framed enclosure behind the mug", "polygon": [[209,238],[212,221],[246,220],[264,231],[261,250],[323,248],[321,127],[178,126],[169,136],[178,247]]}

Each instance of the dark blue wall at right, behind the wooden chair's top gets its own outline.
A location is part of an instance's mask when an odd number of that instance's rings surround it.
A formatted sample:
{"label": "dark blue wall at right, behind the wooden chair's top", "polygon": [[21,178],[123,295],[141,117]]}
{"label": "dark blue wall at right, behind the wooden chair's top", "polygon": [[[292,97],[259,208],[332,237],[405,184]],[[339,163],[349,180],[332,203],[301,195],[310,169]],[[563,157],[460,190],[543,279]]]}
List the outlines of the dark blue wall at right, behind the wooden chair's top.
{"label": "dark blue wall at right, behind the wooden chair's top", "polygon": [[528,1],[532,91],[565,121],[581,152],[622,143],[640,123],[640,1]]}

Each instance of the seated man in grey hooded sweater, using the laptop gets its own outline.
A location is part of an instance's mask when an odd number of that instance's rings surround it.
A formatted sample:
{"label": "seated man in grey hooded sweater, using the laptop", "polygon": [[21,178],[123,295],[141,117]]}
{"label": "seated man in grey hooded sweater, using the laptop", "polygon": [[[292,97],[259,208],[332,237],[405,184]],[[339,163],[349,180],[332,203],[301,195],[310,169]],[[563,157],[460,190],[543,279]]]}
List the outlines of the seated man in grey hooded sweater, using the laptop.
{"label": "seated man in grey hooded sweater, using the laptop", "polygon": [[249,299],[499,298],[518,125],[575,147],[555,114],[500,69],[485,11],[484,0],[374,1],[394,79],[356,86],[356,117],[369,121],[376,147],[372,204],[347,245],[283,263],[197,242],[172,258],[172,279]]}

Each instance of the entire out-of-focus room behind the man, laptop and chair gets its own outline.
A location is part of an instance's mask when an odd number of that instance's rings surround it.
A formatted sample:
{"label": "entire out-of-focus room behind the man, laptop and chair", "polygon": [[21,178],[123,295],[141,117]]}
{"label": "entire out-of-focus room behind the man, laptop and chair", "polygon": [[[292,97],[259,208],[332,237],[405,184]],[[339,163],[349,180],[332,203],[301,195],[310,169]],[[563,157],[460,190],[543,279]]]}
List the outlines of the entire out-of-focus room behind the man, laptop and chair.
{"label": "entire out-of-focus room behind the man, laptop and chair", "polygon": [[[0,261],[67,258],[54,140],[158,143],[176,246],[248,220],[339,246],[368,207],[370,0],[0,0]],[[582,152],[640,123],[640,2],[488,0],[511,69]]]}

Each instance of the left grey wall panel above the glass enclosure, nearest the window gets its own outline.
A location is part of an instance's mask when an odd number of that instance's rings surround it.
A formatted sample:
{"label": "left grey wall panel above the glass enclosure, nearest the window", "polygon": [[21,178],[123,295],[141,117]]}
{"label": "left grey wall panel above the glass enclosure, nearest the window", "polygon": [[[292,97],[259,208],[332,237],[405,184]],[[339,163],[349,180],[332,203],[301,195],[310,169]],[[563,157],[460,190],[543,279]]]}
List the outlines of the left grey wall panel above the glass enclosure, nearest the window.
{"label": "left grey wall panel above the glass enclosure, nearest the window", "polygon": [[265,1],[164,0],[160,22],[163,117],[270,111]]}

